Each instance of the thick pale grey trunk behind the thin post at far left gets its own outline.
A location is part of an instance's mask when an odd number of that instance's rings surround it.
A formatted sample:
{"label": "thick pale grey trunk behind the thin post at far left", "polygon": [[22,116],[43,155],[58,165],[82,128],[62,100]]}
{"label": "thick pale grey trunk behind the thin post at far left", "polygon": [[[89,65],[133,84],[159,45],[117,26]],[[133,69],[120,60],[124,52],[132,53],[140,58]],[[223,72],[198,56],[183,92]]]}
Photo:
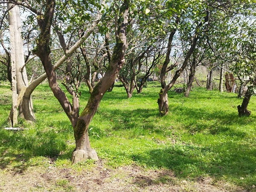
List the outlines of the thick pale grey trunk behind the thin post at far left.
{"label": "thick pale grey trunk behind the thin post at far left", "polygon": [[[8,8],[12,4],[8,3]],[[17,94],[23,89],[28,87],[28,78],[26,74],[26,68],[22,67],[25,64],[23,53],[23,41],[21,38],[21,21],[20,21],[20,9],[18,6],[14,6],[9,13],[9,24],[14,28],[14,41],[15,41],[15,64],[16,64],[16,77],[17,77]],[[33,110],[32,97],[24,97],[19,105],[19,115],[25,120],[35,121],[35,114]]]}

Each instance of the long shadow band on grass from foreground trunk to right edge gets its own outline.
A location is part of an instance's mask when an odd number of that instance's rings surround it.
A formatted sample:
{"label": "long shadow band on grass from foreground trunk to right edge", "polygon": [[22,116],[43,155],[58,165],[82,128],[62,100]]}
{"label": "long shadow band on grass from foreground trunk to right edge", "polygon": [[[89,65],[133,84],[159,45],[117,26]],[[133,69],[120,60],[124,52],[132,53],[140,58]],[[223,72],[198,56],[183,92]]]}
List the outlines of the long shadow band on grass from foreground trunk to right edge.
{"label": "long shadow band on grass from foreground trunk to right edge", "polygon": [[[112,129],[116,131],[123,129],[153,130],[158,134],[164,134],[166,136],[168,136],[171,131],[168,129],[177,126],[176,123],[178,122],[180,127],[187,130],[188,133],[192,135],[196,133],[211,135],[223,134],[240,139],[243,139],[248,134],[248,130],[243,128],[244,125],[256,124],[256,119],[240,118],[232,112],[227,113],[226,111],[217,109],[207,111],[207,109],[203,108],[193,109],[182,105],[172,108],[172,113],[176,114],[159,117],[157,109],[105,110],[102,108],[97,111],[95,120],[93,121],[111,122]],[[183,116],[183,119],[180,119],[180,116]],[[166,121],[168,124],[166,123],[166,126],[160,125],[160,121]],[[92,125],[95,127],[94,131],[98,131],[98,133],[95,132],[94,135],[98,134],[102,137],[104,134],[107,134],[100,133],[102,130],[97,128],[97,123],[92,123]],[[148,132],[144,134],[148,134]],[[141,135],[143,135],[143,131],[141,131]]]}

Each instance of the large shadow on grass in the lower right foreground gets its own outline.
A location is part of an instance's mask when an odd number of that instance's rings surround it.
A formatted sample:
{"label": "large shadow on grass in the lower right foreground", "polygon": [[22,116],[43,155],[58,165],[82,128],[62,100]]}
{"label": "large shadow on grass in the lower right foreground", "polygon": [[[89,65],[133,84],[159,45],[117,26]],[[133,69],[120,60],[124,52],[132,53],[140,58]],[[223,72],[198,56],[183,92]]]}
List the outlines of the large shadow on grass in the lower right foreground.
{"label": "large shadow on grass in the lower right foreground", "polygon": [[211,176],[239,180],[242,177],[244,186],[252,186],[256,176],[256,150],[251,150],[248,145],[230,142],[227,145],[232,150],[225,150],[223,144],[207,148],[174,144],[144,154],[133,154],[131,158],[146,168],[173,170],[177,177],[184,179]]}

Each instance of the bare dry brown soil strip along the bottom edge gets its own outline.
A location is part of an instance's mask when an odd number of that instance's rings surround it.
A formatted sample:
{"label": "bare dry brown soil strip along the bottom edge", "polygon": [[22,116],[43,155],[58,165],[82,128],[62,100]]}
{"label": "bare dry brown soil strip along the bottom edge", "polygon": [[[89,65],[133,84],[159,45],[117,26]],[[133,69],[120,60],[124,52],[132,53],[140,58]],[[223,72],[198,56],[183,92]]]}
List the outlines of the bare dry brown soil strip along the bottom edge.
{"label": "bare dry brown soil strip along the bottom edge", "polygon": [[31,166],[0,169],[0,192],[247,192],[210,177],[181,180],[170,170],[146,170],[131,165],[106,169],[101,160],[93,169]]}

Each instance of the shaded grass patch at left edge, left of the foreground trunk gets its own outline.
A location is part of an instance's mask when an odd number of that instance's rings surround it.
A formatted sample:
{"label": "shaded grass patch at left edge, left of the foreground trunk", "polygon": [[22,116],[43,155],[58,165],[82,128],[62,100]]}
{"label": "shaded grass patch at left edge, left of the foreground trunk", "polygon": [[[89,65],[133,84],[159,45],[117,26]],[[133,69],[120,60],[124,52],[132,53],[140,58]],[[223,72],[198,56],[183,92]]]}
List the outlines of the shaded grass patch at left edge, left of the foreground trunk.
{"label": "shaded grass patch at left edge, left of the foreground trunk", "polygon": [[24,131],[0,129],[0,169],[9,167],[15,173],[22,173],[41,163],[33,161],[32,157],[48,157],[51,160],[60,157],[63,151],[71,150],[67,146],[66,135],[52,128],[29,128]]}

